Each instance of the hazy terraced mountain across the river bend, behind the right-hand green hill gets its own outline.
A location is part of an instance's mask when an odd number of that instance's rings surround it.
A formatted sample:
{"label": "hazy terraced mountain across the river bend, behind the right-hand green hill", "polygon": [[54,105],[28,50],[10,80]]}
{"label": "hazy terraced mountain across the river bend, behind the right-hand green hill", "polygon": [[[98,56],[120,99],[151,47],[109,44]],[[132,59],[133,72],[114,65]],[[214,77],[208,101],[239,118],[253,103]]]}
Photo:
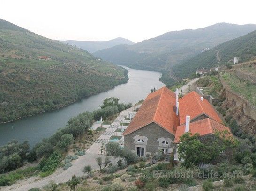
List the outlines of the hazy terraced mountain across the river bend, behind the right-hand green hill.
{"label": "hazy terraced mountain across the river bend, behind the right-hand green hill", "polygon": [[233,38],[256,30],[256,25],[218,23],[196,30],[172,31],[134,45],[119,45],[94,53],[115,64],[163,71]]}

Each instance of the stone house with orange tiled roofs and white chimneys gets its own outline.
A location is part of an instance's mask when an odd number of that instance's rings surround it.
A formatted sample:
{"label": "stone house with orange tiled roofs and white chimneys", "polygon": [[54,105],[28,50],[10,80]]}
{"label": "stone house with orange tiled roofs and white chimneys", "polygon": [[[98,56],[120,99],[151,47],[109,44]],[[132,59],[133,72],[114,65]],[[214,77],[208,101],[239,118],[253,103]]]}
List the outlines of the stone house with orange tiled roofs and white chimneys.
{"label": "stone house with orange tiled roofs and white chimneys", "polygon": [[205,120],[213,121],[215,125],[222,123],[206,99],[194,91],[178,98],[177,94],[162,87],[150,93],[143,101],[123,134],[124,147],[142,157],[158,150],[170,154],[176,149],[179,137],[185,133],[186,124],[187,131],[189,131],[190,124],[193,127],[192,133],[194,133],[194,129],[198,131],[198,128],[194,126]]}

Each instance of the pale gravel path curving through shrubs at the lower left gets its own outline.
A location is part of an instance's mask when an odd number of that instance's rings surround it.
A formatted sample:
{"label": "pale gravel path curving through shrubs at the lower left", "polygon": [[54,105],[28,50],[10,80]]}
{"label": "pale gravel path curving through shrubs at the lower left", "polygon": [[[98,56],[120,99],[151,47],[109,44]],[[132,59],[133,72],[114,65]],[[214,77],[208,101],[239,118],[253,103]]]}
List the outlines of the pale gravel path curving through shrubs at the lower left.
{"label": "pale gravel path curving through shrubs at the lower left", "polygon": [[[93,170],[98,170],[99,167],[95,159],[99,156],[104,160],[105,156],[103,155],[86,153],[86,155],[80,156],[77,160],[73,161],[73,166],[69,167],[67,170],[59,169],[52,175],[39,180],[37,180],[38,177],[30,177],[29,179],[18,181],[11,186],[3,187],[0,191],[27,191],[35,187],[43,188],[45,185],[49,184],[50,180],[56,183],[67,182],[73,175],[78,177],[84,175],[82,170],[85,165],[90,164]],[[111,157],[111,163],[117,163],[118,159],[117,157]]]}

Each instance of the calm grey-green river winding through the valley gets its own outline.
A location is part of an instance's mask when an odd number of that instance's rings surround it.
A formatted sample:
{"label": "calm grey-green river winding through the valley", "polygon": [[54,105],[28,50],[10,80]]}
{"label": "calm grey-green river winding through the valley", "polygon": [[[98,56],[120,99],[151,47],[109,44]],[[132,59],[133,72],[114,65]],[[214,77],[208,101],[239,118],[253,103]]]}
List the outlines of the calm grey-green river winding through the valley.
{"label": "calm grey-green river winding through the valley", "polygon": [[107,92],[90,96],[58,110],[0,124],[0,145],[16,139],[18,141],[28,140],[30,145],[33,146],[42,141],[43,138],[54,134],[57,129],[65,127],[71,117],[85,111],[99,109],[106,98],[116,97],[120,99],[120,103],[132,102],[135,104],[140,99],[145,99],[152,88],[156,87],[158,89],[164,86],[159,81],[161,76],[159,72],[122,67],[129,71],[129,80],[126,84],[118,85]]}

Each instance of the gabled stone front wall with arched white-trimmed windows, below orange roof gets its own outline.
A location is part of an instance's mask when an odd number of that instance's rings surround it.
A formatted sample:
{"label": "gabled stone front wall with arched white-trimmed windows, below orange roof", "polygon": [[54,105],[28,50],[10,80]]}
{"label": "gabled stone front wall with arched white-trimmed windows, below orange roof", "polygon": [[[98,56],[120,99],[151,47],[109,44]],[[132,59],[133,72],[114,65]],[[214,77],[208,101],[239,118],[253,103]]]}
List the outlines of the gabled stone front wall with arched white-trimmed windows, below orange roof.
{"label": "gabled stone front wall with arched white-trimmed windows, below orange roof", "polygon": [[[139,139],[144,142],[138,142]],[[168,145],[162,144],[163,141],[167,141]],[[137,152],[137,147],[144,148],[144,156],[146,154],[153,154],[159,149],[168,149],[168,152],[173,151],[173,141],[174,135],[170,134],[168,131],[158,126],[156,123],[142,127],[133,133],[124,136],[124,147],[133,152]]]}

